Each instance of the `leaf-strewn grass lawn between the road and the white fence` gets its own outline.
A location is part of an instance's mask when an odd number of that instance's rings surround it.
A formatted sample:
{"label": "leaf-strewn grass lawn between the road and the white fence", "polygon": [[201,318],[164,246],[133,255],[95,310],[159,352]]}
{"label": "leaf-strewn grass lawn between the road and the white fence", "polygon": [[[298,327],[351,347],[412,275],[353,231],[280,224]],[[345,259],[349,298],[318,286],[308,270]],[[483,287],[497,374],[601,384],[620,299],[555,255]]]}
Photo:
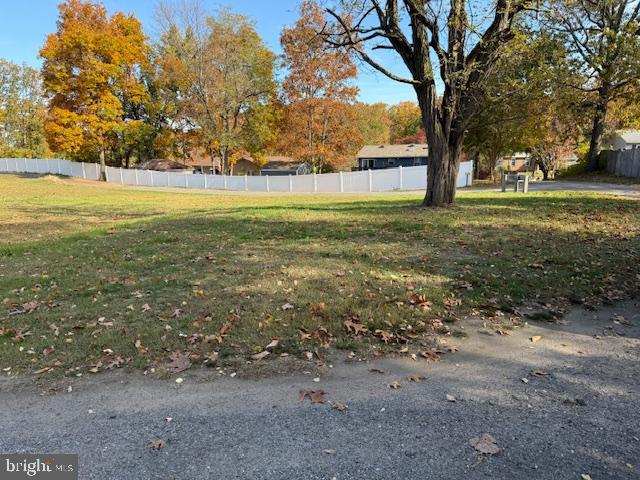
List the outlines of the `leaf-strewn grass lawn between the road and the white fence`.
{"label": "leaf-strewn grass lawn between the road and the white fence", "polygon": [[[423,210],[420,199],[0,175],[0,368],[49,378],[160,373],[187,357],[235,369],[315,362],[327,348],[428,353],[464,335],[469,313],[506,325],[523,302],[638,287],[638,200],[461,192],[454,208]],[[273,339],[269,358],[252,358]]]}

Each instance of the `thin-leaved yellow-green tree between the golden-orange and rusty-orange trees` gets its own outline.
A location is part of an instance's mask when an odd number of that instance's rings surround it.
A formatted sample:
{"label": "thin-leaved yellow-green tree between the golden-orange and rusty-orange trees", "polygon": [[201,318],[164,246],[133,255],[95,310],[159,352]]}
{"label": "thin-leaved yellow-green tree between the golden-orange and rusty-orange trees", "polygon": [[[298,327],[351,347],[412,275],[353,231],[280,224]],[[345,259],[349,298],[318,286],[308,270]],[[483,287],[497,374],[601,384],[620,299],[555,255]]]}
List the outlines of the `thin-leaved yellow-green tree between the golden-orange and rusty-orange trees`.
{"label": "thin-leaved yellow-green tree between the golden-orange and rusty-orange trees", "polygon": [[232,155],[247,149],[249,113],[275,96],[275,56],[253,22],[230,10],[207,16],[197,1],[162,4],[160,18],[161,83],[176,100],[179,128],[196,131],[227,172]]}

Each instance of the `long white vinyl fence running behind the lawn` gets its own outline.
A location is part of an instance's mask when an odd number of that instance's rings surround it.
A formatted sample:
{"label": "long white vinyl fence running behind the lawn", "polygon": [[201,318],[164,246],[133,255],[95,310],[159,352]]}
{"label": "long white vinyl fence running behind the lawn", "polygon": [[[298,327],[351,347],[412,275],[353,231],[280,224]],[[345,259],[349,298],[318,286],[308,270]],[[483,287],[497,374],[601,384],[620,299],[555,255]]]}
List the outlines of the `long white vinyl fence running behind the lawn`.
{"label": "long white vinyl fence running behind the lawn", "polygon": [[[97,163],[79,163],[60,159],[0,158],[0,172],[50,173],[97,180],[100,166]],[[106,173],[107,181],[111,183],[254,192],[390,192],[394,190],[424,190],[427,186],[427,167],[424,165],[363,172],[264,177],[156,172],[114,167],[107,167]],[[470,186],[472,177],[473,162],[462,162],[458,173],[458,188]]]}

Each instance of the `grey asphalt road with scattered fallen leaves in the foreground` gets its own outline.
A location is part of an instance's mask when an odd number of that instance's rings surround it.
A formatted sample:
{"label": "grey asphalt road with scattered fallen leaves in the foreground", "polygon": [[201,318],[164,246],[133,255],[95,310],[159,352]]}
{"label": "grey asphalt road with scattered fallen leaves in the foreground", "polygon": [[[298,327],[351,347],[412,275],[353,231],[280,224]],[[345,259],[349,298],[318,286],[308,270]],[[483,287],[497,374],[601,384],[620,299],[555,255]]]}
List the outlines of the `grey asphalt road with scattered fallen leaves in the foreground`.
{"label": "grey asphalt road with scattered fallen leaves in the foreground", "polygon": [[[440,362],[336,357],[319,382],[119,373],[43,395],[5,379],[0,451],[79,453],[80,478],[100,480],[640,478],[637,302],[508,336],[466,329]],[[299,401],[306,388],[348,409]],[[483,433],[499,453],[469,444]]]}

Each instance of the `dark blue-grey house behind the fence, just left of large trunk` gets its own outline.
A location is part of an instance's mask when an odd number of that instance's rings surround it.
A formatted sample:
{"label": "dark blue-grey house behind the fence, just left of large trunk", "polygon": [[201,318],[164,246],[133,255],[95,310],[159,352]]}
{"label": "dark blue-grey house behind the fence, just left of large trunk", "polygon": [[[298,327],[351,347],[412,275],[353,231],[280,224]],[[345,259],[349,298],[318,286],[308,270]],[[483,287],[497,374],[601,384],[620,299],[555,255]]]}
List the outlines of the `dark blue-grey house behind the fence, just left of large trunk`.
{"label": "dark blue-grey house behind the fence, just left of large trunk", "polygon": [[365,145],[357,154],[355,170],[379,170],[395,167],[426,165],[428,148],[426,143],[408,145]]}

